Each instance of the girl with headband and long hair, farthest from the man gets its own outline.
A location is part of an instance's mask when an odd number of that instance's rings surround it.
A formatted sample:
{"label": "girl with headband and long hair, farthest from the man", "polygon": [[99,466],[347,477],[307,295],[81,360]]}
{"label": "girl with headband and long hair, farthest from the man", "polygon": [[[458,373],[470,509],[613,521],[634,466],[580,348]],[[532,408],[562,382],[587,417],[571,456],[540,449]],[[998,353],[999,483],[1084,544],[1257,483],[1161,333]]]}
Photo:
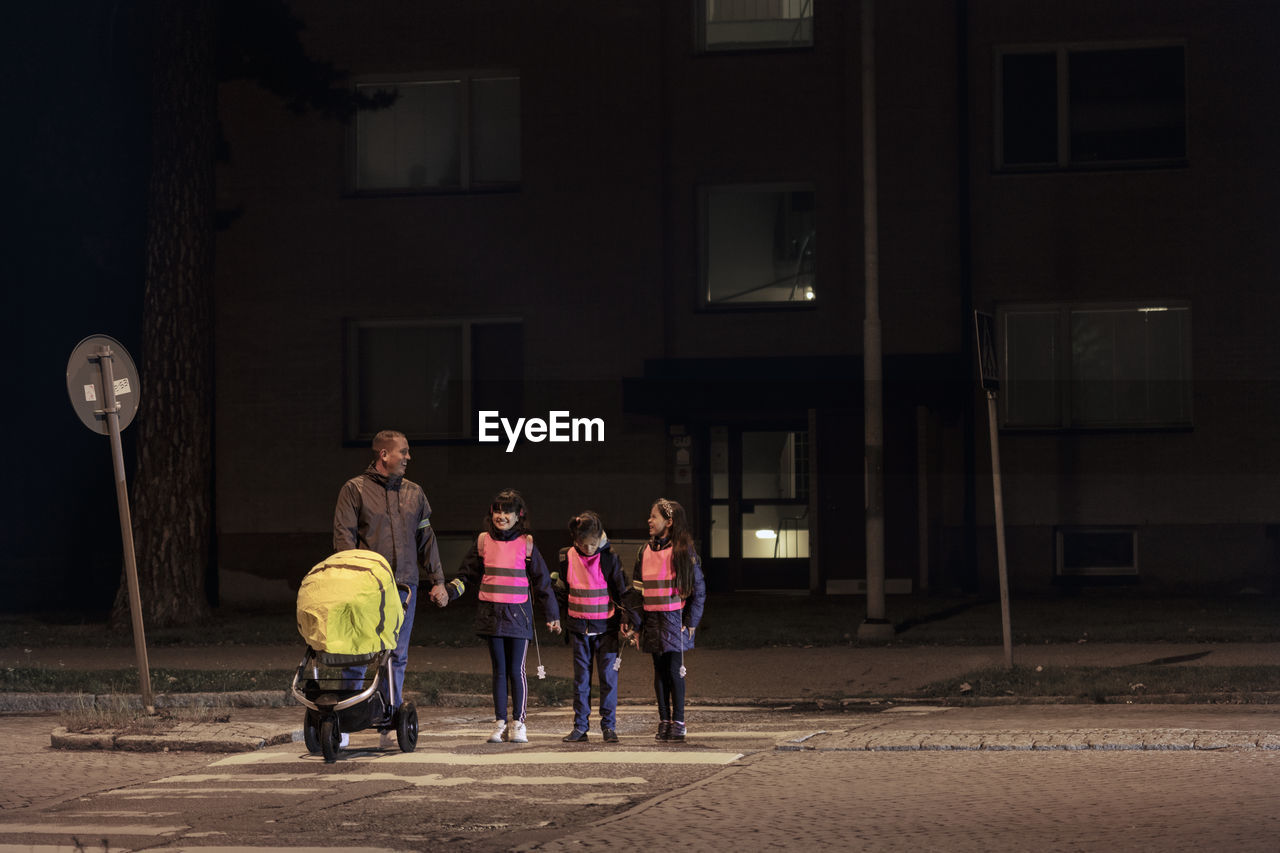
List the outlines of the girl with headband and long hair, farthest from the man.
{"label": "girl with headband and long hair, farthest from the man", "polygon": [[[631,575],[631,626],[640,629],[640,651],[653,654],[658,695],[657,740],[685,739],[685,652],[703,619],[707,583],[689,534],[685,508],[659,498],[649,510],[649,542],[636,555]],[[636,599],[639,598],[639,601]]]}

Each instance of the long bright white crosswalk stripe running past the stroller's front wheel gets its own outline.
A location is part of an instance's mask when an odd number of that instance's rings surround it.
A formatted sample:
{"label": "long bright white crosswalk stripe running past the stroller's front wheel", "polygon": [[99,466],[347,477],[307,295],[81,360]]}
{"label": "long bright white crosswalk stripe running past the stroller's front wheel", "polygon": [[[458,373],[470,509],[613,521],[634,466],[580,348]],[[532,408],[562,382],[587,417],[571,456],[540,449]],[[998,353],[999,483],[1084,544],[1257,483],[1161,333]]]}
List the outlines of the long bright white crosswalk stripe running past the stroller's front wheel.
{"label": "long bright white crosswalk stripe running past the stroller's front wheel", "polygon": [[[449,752],[398,752],[398,753],[347,753],[346,761],[364,763],[376,761],[384,765],[447,765],[454,767],[502,767],[534,765],[727,765],[742,757],[740,752],[714,752],[701,749],[663,749],[640,752],[535,752],[504,749],[495,754],[454,754]],[[243,765],[292,765],[319,762],[319,756],[287,752],[247,752],[215,761],[211,767]]]}

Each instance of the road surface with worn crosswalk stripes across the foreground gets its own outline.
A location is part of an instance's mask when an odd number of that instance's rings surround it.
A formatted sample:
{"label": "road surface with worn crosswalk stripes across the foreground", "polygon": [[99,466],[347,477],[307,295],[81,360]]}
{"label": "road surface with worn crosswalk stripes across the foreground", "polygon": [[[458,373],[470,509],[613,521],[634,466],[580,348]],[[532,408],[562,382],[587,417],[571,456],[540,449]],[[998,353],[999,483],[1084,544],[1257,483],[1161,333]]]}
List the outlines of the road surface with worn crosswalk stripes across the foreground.
{"label": "road surface with worn crosswalk stripes across the foreground", "polygon": [[[1275,710],[704,707],[685,745],[657,744],[652,716],[623,707],[622,743],[571,745],[566,711],[539,710],[530,744],[493,745],[483,708],[428,708],[416,752],[357,733],[333,765],[300,743],[54,751],[54,719],[4,716],[0,850],[1274,850],[1280,836]],[[942,733],[951,748],[922,748]],[[887,745],[867,749],[872,734]]]}

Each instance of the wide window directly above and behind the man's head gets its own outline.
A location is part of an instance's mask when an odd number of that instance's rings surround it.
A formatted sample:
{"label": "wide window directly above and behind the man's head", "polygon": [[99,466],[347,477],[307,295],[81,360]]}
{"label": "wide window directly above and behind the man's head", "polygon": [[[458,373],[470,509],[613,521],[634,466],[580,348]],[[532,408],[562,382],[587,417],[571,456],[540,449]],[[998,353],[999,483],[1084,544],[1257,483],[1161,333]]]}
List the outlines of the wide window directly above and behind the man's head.
{"label": "wide window directly above and behind the man's head", "polygon": [[351,320],[346,438],[475,435],[477,411],[521,410],[522,379],[520,320]]}

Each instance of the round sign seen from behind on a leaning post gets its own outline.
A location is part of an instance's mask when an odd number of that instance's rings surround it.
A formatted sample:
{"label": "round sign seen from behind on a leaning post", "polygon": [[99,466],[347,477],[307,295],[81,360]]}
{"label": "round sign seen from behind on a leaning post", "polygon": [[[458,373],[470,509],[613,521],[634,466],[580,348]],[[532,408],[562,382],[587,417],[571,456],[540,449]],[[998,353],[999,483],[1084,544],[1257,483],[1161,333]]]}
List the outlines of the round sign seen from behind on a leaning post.
{"label": "round sign seen from behind on a leaning post", "polygon": [[111,438],[111,464],[115,467],[115,503],[120,512],[120,539],[124,543],[124,576],[129,588],[129,615],[133,617],[133,649],[138,658],[142,704],[155,713],[147,640],[142,631],[142,598],[138,565],[133,553],[133,523],[129,517],[129,489],[124,482],[124,451],[120,432],[133,423],[138,411],[138,371],[123,346],[105,334],[84,338],[67,361],[67,393],[81,421],[95,433]]}

